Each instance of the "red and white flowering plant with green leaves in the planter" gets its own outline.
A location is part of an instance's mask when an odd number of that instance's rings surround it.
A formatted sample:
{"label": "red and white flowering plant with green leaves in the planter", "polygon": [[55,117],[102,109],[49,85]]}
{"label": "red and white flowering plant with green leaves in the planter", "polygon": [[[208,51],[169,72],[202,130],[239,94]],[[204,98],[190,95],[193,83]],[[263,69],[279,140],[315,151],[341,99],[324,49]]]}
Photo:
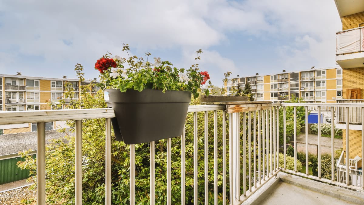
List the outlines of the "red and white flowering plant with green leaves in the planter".
{"label": "red and white flowering plant with green leaves in the planter", "polygon": [[[101,89],[117,88],[121,92],[127,89],[134,89],[142,92],[144,89],[162,90],[183,90],[192,93],[194,98],[198,97],[198,89],[208,81],[211,85],[210,75],[207,71],[199,71],[197,60],[201,59],[199,54],[202,50],[196,51],[196,63],[189,69],[178,69],[171,67],[169,61],[161,61],[161,58],[154,58],[154,63],[148,61],[150,53],[146,53],[147,61],[137,56],[129,56],[129,45],[123,46],[128,58],[115,56],[110,58],[107,53],[95,63],[95,69],[100,71]],[[125,66],[128,66],[126,68]],[[209,95],[209,90],[205,90]]]}

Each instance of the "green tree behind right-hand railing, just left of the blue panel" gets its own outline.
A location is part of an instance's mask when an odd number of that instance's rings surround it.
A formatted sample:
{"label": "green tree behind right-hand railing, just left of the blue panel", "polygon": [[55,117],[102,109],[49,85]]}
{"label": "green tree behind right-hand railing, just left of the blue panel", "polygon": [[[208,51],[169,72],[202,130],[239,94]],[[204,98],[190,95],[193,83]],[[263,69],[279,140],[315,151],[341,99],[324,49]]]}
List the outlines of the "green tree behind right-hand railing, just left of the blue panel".
{"label": "green tree behind right-hand railing, just left of the blue panel", "polygon": [[[296,97],[292,97],[287,102],[298,102],[299,99]],[[297,128],[296,133],[299,135],[301,133],[301,128],[305,126],[305,115],[306,110],[303,106],[296,107],[297,111]],[[309,113],[308,113],[309,114]],[[283,107],[279,109],[279,135],[283,136]],[[294,108],[293,106],[286,106],[286,142],[293,140],[294,136]],[[283,138],[280,138],[280,144],[283,144]]]}

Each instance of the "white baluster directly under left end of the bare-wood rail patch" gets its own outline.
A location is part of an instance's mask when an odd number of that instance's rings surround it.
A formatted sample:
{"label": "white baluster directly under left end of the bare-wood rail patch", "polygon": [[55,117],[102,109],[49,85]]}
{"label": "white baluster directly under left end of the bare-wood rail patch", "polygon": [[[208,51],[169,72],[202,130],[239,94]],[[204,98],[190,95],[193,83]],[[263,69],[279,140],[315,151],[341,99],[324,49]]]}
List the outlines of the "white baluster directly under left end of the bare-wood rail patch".
{"label": "white baluster directly under left end of the bare-wood rail patch", "polygon": [[234,171],[233,171],[233,113],[229,113],[229,201],[234,201]]}

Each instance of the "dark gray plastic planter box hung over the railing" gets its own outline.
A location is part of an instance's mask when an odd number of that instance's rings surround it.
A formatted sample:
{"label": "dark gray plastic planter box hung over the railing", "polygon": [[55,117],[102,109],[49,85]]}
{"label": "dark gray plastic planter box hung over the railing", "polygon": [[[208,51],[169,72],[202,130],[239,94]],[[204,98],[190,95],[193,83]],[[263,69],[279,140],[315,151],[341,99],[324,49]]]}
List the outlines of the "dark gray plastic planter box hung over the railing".
{"label": "dark gray plastic planter box hung over the railing", "polygon": [[104,93],[107,107],[115,112],[111,123],[116,140],[139,144],[182,135],[190,92],[105,89]]}

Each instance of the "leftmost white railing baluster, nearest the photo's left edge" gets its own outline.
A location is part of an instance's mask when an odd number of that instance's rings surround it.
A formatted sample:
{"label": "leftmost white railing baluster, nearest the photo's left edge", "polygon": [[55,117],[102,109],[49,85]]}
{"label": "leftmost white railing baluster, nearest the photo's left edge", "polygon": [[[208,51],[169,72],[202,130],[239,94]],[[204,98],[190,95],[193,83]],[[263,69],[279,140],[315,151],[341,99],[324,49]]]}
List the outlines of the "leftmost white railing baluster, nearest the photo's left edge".
{"label": "leftmost white railing baluster, nearest the photo's left edge", "polygon": [[46,204],[46,123],[37,123],[37,204]]}

